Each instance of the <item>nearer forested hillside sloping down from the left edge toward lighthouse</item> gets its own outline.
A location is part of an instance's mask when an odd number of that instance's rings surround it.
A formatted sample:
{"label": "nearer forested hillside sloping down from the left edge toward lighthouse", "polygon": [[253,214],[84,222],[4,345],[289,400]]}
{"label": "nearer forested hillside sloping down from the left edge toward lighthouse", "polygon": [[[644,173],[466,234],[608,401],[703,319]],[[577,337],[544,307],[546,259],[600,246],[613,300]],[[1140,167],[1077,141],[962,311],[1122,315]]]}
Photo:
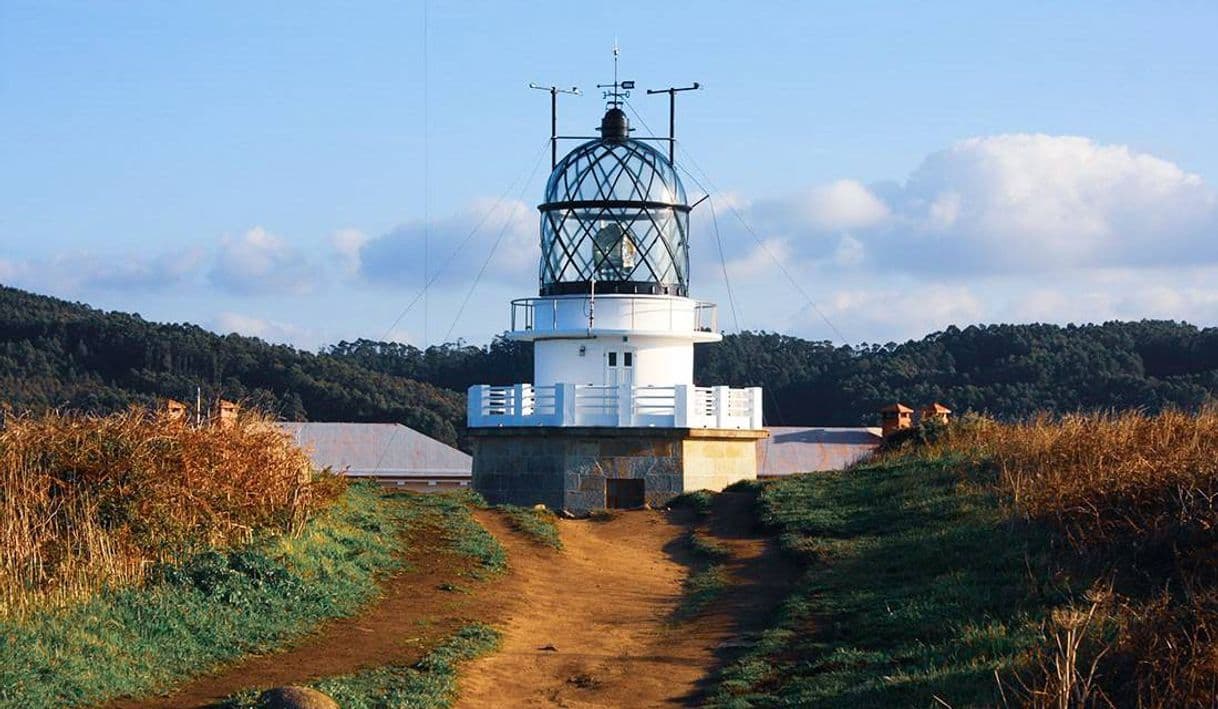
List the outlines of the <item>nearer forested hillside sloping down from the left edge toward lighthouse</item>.
{"label": "nearer forested hillside sloping down from the left edge toward lighthouse", "polygon": [[464,397],[353,361],[0,286],[0,402],[112,412],[161,397],[244,400],[284,419],[400,422],[456,443]]}

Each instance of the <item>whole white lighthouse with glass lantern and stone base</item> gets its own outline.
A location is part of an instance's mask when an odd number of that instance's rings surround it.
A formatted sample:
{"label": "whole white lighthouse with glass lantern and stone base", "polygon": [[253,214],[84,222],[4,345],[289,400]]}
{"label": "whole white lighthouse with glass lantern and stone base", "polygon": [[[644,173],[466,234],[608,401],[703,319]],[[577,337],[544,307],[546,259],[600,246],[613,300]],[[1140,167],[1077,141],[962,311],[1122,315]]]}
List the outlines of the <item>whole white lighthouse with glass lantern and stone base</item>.
{"label": "whole white lighthouse with glass lantern and stone base", "polygon": [[469,389],[474,487],[491,503],[658,506],[756,478],[761,390],[694,381],[694,345],[722,335],[715,305],[691,297],[675,136],[633,133],[632,84],[609,85],[598,135],[546,183],[538,292],[510,303],[507,333],[532,342],[532,381]]}

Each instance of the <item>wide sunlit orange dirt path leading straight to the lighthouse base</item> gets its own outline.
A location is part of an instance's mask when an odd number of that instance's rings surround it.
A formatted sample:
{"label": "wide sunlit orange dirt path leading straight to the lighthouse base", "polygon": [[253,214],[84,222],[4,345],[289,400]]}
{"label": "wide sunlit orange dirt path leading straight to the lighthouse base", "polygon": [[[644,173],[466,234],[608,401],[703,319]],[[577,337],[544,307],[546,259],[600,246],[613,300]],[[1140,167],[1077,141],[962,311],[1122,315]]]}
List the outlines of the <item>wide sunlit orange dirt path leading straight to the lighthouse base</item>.
{"label": "wide sunlit orange dirt path leading straight to the lighthouse base", "polygon": [[[503,648],[462,671],[458,707],[655,707],[697,703],[703,682],[748,642],[790,573],[753,536],[747,496],[720,496],[708,530],[733,552],[733,586],[698,618],[674,623],[692,562],[687,526],[661,512],[560,520],[564,549],[479,520],[508,549]],[[553,648],[553,649],[551,649]]]}

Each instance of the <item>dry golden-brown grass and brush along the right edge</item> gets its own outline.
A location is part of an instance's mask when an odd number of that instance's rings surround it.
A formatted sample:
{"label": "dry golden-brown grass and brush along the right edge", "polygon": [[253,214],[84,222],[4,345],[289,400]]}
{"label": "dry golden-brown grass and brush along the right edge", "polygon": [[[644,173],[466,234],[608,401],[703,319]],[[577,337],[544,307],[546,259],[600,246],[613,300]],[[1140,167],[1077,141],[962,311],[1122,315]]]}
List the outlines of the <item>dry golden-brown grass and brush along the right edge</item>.
{"label": "dry golden-brown grass and brush along the right edge", "polygon": [[1029,703],[1213,705],[1218,409],[972,418],[923,437],[926,454],[991,467],[1011,513],[1052,530],[1063,566],[1096,579],[1045,629]]}

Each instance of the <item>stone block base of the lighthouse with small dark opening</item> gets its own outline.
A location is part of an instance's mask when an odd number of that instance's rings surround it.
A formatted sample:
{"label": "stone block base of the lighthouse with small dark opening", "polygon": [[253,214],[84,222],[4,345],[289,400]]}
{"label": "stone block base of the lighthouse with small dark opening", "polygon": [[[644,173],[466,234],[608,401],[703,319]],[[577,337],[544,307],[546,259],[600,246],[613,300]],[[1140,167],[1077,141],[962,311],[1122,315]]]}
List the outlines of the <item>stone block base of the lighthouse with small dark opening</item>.
{"label": "stone block base of the lighthouse with small dark opening", "polygon": [[758,476],[765,430],[471,428],[474,490],[491,504],[586,513],[659,507]]}

